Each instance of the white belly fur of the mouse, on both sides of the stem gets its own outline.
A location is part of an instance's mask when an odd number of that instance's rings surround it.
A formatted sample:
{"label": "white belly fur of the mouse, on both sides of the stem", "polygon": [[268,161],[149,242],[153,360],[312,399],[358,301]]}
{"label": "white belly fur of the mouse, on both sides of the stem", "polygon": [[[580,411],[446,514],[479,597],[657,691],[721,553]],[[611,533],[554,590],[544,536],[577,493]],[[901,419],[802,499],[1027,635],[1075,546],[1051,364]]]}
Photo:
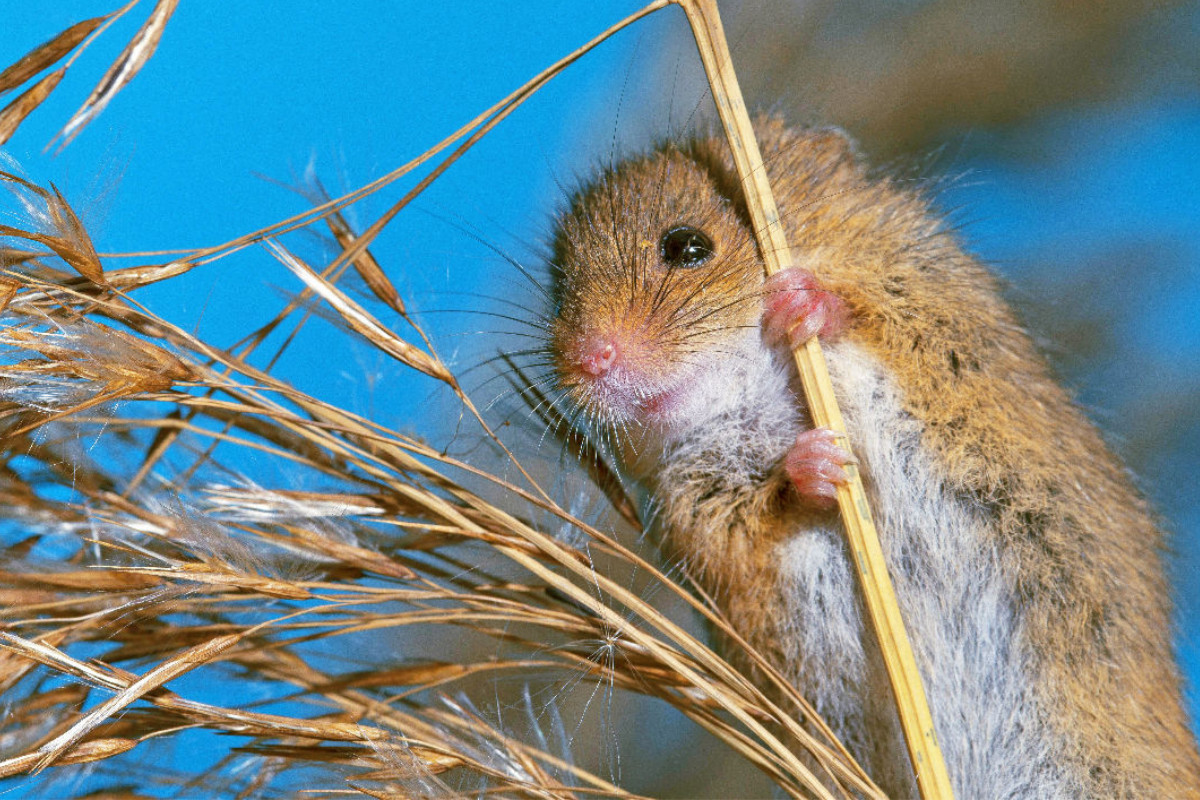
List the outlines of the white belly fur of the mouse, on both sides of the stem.
{"label": "white belly fur of the mouse, on both sides of the stem", "polygon": [[[1064,742],[1038,718],[1021,619],[986,518],[946,489],[920,444],[920,423],[904,411],[882,366],[852,343],[827,353],[955,795],[1079,796],[1055,766]],[[869,772],[913,795],[840,530],[799,530],[780,551],[790,628],[782,639],[796,648],[786,654],[790,678]]]}

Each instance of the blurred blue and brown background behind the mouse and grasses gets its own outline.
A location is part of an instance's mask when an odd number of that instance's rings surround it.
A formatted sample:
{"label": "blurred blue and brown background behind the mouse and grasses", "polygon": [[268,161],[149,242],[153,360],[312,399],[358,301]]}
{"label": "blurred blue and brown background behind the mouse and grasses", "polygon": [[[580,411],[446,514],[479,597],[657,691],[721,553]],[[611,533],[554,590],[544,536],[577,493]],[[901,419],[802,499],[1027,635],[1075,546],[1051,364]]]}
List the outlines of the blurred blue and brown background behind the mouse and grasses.
{"label": "blurred blue and brown background behind the mouse and grasses", "polygon": [[[0,67],[115,8],[6,6]],[[4,151],[62,190],[102,253],[215,245],[306,209],[288,190],[306,174],[340,194],[404,163],[637,7],[182,0],[133,83],[68,146],[47,150],[145,5],[80,56]],[[1063,380],[1162,511],[1178,651],[1200,684],[1200,5],[761,0],[722,12],[751,108],[841,126],[874,163],[941,179],[942,207],[1007,279]],[[376,255],[467,369],[493,347],[480,333],[497,327],[469,312],[526,296],[498,252],[535,265],[580,176],[712,116],[683,14],[668,8],[514,114],[384,231]],[[362,229],[400,193],[354,206],[352,223]],[[294,290],[270,258],[251,254],[140,299],[232,344]],[[280,374],[389,425],[419,426],[421,390],[331,332],[307,327]],[[500,392],[494,373],[473,374],[479,399]],[[1200,696],[1189,697],[1196,716]],[[678,717],[622,710],[607,715],[613,738],[596,747],[623,786],[769,795],[756,776],[721,766]]]}

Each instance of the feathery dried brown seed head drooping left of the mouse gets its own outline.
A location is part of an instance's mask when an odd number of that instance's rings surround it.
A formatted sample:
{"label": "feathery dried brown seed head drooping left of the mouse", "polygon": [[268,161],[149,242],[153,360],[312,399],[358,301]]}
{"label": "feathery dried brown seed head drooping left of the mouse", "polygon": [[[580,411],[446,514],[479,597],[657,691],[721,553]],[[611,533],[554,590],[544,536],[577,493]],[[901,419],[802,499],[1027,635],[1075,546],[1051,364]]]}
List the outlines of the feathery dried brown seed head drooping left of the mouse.
{"label": "feathery dried brown seed head drooping left of the mouse", "polygon": [[[547,704],[538,711],[527,697],[533,720],[506,727],[464,699],[480,680],[515,675],[664,700],[791,796],[880,796],[761,655],[749,660],[769,692],[646,600],[673,597],[745,646],[685,581],[556,499],[478,409],[370,249],[533,91],[665,5],[623,20],[384,179],[168,261],[113,269],[61,194],[4,176],[29,224],[0,230],[0,498],[10,531],[0,697],[11,709],[0,722],[0,777],[112,763],[136,764],[148,784],[170,781],[143,753],[209,730],[236,738],[227,757],[186,776],[205,793],[295,786],[289,772],[320,766],[318,786],[307,786],[322,796],[445,796],[468,786],[635,796],[552,741]],[[456,142],[376,224],[355,234],[340,216]],[[317,224],[337,242],[324,269],[287,239]],[[239,345],[217,347],[138,302],[146,284],[252,258],[252,243],[302,289]],[[373,300],[346,290],[348,269]],[[448,422],[472,426],[491,444],[490,461],[457,457],[275,377],[280,350],[263,351],[269,336],[284,325],[294,332],[314,306],[414,384],[440,387]],[[564,423],[535,407],[547,423]],[[564,434],[594,493],[640,524],[595,450]],[[240,476],[245,464],[287,485],[251,482]],[[41,554],[47,539],[71,542],[61,548],[68,554]],[[630,587],[635,573],[646,588]],[[485,656],[414,662],[389,649],[396,631],[493,644]],[[346,642],[355,660],[332,658]],[[269,710],[245,699],[268,688]],[[262,768],[252,777],[238,768],[248,758]]]}

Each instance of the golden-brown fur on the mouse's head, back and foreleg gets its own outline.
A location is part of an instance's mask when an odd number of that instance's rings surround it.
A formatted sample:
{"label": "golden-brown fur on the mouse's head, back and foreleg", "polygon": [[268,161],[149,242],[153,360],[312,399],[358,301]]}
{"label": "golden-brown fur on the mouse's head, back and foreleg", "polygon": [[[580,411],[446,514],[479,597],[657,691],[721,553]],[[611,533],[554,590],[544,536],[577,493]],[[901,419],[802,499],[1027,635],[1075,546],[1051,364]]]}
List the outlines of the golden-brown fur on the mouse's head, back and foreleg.
{"label": "golden-brown fur on the mouse's head, back and foreleg", "polygon": [[[1039,706],[1074,745],[1088,796],[1200,796],[1171,656],[1163,535],[1122,467],[1055,383],[994,278],[923,197],[869,178],[836,132],[764,120],[758,136],[793,253],[851,306],[848,336],[889,366],[947,486],[994,519]],[[718,138],[664,148],[601,178],[560,227],[558,263],[574,266],[560,281],[556,353],[582,320],[649,326],[642,333],[653,345],[636,357],[665,373],[719,348],[722,331],[757,324],[761,306],[746,288],[761,287],[762,265],[740,203]],[[720,258],[662,276],[653,242],[637,236],[677,224],[679,209],[715,231]],[[571,366],[560,361],[559,371],[578,393]],[[768,554],[792,512],[769,467],[763,481],[721,492],[697,480],[677,493],[686,501],[661,513],[671,547],[779,660],[790,648],[773,638]]]}

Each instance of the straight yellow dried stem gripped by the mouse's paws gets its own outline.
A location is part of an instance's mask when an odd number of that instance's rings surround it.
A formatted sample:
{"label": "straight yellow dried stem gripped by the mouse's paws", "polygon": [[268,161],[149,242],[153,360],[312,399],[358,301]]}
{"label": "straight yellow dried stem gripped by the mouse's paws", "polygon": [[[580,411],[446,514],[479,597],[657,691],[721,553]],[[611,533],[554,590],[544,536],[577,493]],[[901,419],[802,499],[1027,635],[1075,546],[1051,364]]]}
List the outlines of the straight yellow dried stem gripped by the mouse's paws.
{"label": "straight yellow dried stem gripped by the mouse's paws", "polygon": [[[696,37],[716,110],[733,151],[733,161],[745,192],[767,273],[774,275],[790,266],[791,251],[767,181],[762,154],[758,152],[742,90],[733,73],[716,2],[715,0],[676,0],[676,2],[688,14],[688,22]],[[838,409],[829,371],[816,337],[797,348],[794,355],[812,422],[840,434],[848,451],[846,423]],[[908,634],[905,632],[900,607],[896,604],[895,590],[883,561],[878,533],[866,504],[863,477],[853,461],[846,464],[845,469],[848,480],[838,487],[838,507],[846,527],[850,549],[854,554],[851,560],[858,570],[866,609],[892,680],[917,784],[925,800],[953,798],[946,763],[934,732],[934,717],[929,711],[925,690],[917,672],[917,662],[912,655]]]}

